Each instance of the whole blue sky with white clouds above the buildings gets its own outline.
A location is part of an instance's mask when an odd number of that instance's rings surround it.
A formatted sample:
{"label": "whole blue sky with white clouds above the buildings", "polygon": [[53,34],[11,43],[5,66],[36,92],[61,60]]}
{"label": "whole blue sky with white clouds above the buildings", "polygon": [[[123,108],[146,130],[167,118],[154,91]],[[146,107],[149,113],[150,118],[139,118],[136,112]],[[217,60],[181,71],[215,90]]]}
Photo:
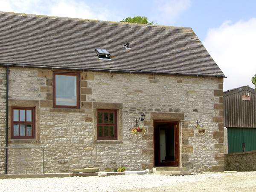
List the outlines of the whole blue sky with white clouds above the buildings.
{"label": "whole blue sky with white clouds above the buildings", "polygon": [[0,11],[120,21],[145,16],[191,27],[227,78],[224,91],[255,88],[256,0],[0,0]]}

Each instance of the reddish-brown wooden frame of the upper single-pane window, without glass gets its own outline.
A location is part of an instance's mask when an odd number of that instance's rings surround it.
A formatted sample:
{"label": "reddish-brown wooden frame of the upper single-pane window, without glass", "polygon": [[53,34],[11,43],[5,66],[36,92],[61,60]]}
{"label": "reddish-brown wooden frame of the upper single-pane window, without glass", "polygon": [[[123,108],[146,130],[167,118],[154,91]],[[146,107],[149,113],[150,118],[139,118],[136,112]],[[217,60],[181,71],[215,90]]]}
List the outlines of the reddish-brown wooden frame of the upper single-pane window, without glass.
{"label": "reddish-brown wooden frame of the upper single-pane window, without glass", "polygon": [[[55,76],[56,75],[70,75],[76,76],[76,106],[68,106],[68,105],[56,105],[56,93],[55,93]],[[70,73],[70,72],[53,72],[53,108],[79,108],[79,73]]]}

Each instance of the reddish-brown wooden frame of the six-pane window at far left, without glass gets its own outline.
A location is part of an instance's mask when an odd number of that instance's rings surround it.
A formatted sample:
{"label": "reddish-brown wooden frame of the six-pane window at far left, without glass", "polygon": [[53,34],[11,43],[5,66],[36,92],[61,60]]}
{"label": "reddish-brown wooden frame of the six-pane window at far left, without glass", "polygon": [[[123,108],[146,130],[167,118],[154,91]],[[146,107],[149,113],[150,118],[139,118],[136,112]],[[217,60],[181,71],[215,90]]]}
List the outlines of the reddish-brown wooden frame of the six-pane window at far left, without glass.
{"label": "reddish-brown wooden frame of the six-pane window at far left, without glass", "polygon": [[[26,112],[25,112],[25,121],[20,121],[20,115],[19,115],[19,121],[14,121],[14,115],[13,111],[14,109],[19,110],[32,110],[32,121],[26,121]],[[20,133],[20,124],[32,124],[32,129],[31,129],[31,136],[14,136],[14,124],[19,124],[19,133]],[[26,129],[25,129],[25,135],[26,135]],[[18,107],[18,106],[12,106],[12,139],[35,139],[35,107]]]}

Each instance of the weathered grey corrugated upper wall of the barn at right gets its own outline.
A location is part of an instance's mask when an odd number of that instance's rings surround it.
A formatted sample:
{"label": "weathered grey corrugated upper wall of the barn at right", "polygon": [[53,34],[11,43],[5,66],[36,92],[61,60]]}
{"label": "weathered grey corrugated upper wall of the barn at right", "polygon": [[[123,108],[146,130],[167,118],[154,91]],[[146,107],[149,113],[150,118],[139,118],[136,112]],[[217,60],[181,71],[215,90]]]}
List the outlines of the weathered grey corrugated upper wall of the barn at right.
{"label": "weathered grey corrugated upper wall of the barn at right", "polygon": [[[242,100],[243,95],[250,100]],[[224,126],[256,128],[256,90],[242,86],[224,92]]]}

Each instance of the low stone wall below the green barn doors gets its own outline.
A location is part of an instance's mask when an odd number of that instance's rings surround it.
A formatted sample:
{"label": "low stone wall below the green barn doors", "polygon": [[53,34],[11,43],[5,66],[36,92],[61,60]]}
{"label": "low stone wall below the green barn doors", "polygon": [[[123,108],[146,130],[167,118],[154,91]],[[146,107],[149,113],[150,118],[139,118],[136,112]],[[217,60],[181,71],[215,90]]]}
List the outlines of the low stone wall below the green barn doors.
{"label": "low stone wall below the green barn doors", "polygon": [[224,155],[225,171],[256,171],[256,151]]}

